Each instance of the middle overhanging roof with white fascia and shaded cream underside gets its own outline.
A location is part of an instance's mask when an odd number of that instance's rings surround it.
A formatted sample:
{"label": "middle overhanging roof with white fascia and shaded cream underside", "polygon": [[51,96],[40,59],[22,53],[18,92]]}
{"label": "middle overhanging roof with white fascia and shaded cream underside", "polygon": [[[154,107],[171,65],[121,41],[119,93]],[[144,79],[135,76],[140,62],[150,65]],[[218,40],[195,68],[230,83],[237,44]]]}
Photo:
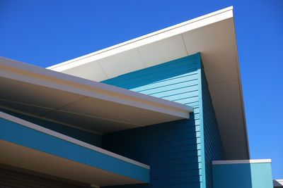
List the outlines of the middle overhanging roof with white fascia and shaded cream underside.
{"label": "middle overhanging roof with white fascia and shaded cream underside", "polygon": [[[190,117],[192,107],[0,58],[0,106],[98,133]],[[146,117],[146,118],[144,118]]]}

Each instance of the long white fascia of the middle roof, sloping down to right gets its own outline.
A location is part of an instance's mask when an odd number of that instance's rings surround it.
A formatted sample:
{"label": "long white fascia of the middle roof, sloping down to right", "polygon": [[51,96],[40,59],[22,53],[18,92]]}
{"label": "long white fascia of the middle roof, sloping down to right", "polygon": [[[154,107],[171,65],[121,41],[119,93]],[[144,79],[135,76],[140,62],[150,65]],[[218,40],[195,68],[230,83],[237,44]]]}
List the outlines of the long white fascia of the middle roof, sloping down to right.
{"label": "long white fascia of the middle roof, sloping down to right", "polygon": [[0,57],[1,77],[81,94],[149,111],[189,118],[191,106]]}

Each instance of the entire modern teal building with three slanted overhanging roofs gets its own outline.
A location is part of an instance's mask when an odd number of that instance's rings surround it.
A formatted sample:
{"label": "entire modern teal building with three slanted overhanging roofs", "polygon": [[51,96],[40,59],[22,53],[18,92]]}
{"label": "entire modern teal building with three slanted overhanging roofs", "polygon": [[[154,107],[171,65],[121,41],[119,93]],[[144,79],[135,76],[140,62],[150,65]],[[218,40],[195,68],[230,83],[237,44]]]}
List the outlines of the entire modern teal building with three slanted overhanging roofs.
{"label": "entire modern teal building with three slanted overhanging roofs", "polygon": [[3,186],[273,187],[250,160],[233,7],[0,71]]}

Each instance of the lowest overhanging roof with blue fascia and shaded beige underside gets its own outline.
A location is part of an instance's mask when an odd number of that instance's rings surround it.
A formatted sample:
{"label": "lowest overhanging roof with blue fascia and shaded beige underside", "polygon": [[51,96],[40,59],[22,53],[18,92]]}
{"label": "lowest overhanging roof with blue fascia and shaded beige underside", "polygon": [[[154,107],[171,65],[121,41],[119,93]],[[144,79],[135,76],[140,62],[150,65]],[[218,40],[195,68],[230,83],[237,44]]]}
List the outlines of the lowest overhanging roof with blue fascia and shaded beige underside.
{"label": "lowest overhanging roof with blue fascia and shaded beige underside", "polygon": [[110,186],[149,182],[149,165],[0,112],[0,163]]}

